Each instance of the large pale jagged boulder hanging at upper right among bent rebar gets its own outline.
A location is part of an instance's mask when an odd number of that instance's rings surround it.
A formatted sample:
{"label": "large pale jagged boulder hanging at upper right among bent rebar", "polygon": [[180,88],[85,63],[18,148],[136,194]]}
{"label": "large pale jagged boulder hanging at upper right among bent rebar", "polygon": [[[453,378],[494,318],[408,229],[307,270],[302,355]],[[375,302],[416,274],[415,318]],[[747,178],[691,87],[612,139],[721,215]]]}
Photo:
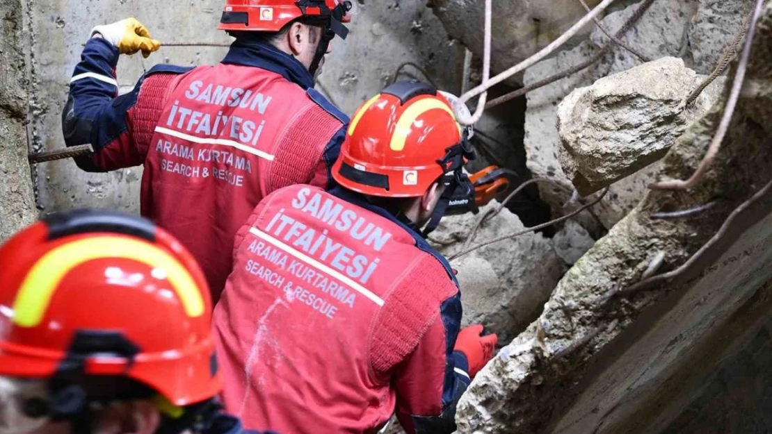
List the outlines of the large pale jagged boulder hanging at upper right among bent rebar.
{"label": "large pale jagged boulder hanging at upper right among bent rebar", "polygon": [[557,108],[558,160],[581,196],[665,156],[686,126],[713,106],[723,77],[684,105],[707,77],[663,57],[574,90]]}

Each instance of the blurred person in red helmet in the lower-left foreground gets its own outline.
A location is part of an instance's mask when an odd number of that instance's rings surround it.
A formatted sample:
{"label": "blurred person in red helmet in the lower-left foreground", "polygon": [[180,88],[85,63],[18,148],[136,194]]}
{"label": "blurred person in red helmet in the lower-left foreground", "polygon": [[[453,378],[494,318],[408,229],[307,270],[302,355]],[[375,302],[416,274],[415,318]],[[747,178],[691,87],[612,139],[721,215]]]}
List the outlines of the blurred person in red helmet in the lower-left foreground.
{"label": "blurred person in red helmet in the lower-left foreground", "polygon": [[0,247],[0,432],[240,434],[206,280],[151,222],[56,214]]}

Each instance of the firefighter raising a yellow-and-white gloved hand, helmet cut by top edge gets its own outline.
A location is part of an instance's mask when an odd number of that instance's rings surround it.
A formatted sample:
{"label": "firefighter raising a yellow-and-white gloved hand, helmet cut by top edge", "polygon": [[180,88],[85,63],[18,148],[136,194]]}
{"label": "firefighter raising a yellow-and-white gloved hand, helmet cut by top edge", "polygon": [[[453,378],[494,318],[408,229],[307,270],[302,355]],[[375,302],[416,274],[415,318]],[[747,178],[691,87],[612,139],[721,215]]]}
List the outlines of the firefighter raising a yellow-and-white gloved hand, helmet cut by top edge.
{"label": "firefighter raising a yellow-and-white gloved hand, helmet cut by top edge", "polygon": [[185,244],[214,301],[232,268],[233,237],[268,193],[327,187],[347,116],[313,89],[350,2],[228,0],[218,29],[235,36],[217,66],[158,65],[117,96],[120,54],[160,47],[136,19],[97,26],[70,81],[67,146],[86,171],[144,166],[141,213]]}

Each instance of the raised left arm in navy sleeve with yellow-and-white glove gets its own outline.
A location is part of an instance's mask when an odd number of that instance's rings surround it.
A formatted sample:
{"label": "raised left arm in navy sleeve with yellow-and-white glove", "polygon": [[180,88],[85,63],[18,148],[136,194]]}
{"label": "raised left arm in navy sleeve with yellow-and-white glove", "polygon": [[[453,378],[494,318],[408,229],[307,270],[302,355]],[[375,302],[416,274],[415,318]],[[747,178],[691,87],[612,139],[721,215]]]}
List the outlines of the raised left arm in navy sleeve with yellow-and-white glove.
{"label": "raised left arm in navy sleeve with yellow-and-white glove", "polygon": [[[161,77],[150,83],[147,75],[143,76],[134,90],[119,97],[115,68],[120,54],[141,51],[147,57],[161,44],[151,39],[136,19],[97,26],[91,34],[70,80],[69,98],[62,113],[66,145],[93,146],[93,156],[76,159],[83,170],[102,172],[137,166],[144,161],[162,108],[158,98],[143,99],[151,96],[144,90],[161,85]],[[156,86],[147,86],[153,84]]]}

